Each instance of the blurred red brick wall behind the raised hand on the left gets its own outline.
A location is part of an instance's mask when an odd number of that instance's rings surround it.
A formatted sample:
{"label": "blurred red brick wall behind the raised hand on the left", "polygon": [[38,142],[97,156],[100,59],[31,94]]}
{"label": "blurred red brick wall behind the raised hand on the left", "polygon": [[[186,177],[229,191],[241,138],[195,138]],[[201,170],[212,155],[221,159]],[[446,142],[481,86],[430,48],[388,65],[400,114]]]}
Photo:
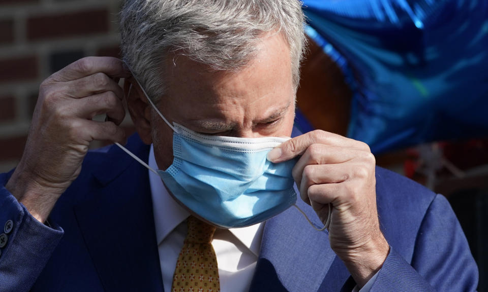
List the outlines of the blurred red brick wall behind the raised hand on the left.
{"label": "blurred red brick wall behind the raised hand on the left", "polygon": [[84,56],[118,55],[120,3],[0,0],[0,172],[22,155],[45,78]]}

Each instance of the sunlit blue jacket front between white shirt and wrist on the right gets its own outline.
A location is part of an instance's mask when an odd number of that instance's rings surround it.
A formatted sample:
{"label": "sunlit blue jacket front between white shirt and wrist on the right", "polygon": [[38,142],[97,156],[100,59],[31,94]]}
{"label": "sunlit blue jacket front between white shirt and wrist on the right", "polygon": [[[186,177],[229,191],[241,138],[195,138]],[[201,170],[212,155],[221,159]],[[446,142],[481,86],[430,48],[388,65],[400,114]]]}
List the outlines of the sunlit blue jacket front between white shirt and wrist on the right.
{"label": "sunlit blue jacket front between white shirt and wrist on the right", "polygon": [[[297,205],[323,226],[310,206],[300,199]],[[265,224],[250,291],[339,291],[348,276],[330,248],[328,233],[315,231],[291,207]]]}

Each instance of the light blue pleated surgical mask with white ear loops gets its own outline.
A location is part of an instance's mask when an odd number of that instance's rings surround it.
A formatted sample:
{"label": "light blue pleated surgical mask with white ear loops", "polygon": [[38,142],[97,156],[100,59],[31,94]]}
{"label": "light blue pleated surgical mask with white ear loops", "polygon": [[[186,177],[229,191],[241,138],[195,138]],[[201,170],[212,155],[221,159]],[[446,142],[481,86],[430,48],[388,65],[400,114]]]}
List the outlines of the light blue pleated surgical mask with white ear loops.
{"label": "light blue pleated surgical mask with white ear loops", "polygon": [[177,123],[170,124],[142,91],[173,129],[173,163],[166,170],[154,170],[117,145],[157,173],[177,202],[223,228],[251,226],[295,204],[291,171],[296,160],[275,164],[266,159],[269,151],[290,138],[200,134]]}

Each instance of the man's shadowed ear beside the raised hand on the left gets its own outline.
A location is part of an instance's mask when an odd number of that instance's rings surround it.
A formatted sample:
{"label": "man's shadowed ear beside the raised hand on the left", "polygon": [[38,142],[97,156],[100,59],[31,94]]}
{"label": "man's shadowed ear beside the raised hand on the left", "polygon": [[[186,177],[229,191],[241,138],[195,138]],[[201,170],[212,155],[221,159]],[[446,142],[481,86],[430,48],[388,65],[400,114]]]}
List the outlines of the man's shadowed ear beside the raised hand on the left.
{"label": "man's shadowed ear beside the raised hand on the left", "polygon": [[139,84],[132,78],[124,80],[124,96],[132,121],[142,142],[150,144],[151,137],[151,108]]}

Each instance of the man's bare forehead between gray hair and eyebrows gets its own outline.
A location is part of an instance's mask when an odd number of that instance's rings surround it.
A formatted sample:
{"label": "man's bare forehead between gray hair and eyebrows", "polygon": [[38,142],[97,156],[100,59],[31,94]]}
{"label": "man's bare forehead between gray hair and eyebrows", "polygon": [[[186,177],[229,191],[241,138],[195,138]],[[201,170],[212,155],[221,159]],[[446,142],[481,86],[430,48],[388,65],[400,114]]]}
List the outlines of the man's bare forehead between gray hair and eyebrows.
{"label": "man's bare forehead between gray hair and eyebrows", "polygon": [[[266,111],[294,99],[290,50],[278,33],[263,36],[255,58],[234,71],[214,70],[182,55],[166,62],[167,106],[178,115]],[[184,107],[182,109],[181,107]]]}

